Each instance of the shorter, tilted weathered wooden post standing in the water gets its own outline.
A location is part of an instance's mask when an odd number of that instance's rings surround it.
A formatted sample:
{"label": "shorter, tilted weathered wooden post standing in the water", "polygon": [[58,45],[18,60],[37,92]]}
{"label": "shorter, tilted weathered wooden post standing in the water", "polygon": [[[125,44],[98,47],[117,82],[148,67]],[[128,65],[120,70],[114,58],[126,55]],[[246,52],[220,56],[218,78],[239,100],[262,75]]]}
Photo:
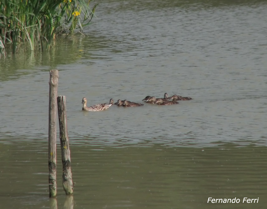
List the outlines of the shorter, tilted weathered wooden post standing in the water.
{"label": "shorter, tilted weathered wooden post standing in the water", "polygon": [[73,193],[72,174],[70,169],[69,137],[67,130],[66,99],[65,96],[57,97],[58,118],[60,128],[60,147],[63,164],[63,188],[66,194]]}

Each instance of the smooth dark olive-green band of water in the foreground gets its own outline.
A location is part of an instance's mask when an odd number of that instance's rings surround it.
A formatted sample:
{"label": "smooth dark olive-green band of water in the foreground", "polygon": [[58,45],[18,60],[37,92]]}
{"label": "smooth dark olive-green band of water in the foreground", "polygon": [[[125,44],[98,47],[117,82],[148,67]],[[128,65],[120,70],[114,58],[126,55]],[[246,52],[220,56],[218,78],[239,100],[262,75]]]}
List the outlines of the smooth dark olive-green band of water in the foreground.
{"label": "smooth dark olive-green band of water in the foreground", "polygon": [[[208,197],[259,198],[256,207],[266,205],[266,147],[70,146],[74,208],[214,208]],[[2,206],[49,208],[46,143],[2,143],[0,150]],[[57,204],[62,208],[71,201],[65,200],[59,153]]]}

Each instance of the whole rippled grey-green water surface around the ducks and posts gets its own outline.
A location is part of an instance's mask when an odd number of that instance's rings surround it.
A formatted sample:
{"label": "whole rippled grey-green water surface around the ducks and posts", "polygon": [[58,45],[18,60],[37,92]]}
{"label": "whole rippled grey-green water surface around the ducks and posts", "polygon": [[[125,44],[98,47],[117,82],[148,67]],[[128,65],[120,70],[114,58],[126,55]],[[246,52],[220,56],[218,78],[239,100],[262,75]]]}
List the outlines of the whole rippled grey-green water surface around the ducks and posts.
{"label": "whole rippled grey-green water surface around the ducks and posts", "polygon": [[[214,208],[210,196],[266,205],[266,7],[101,1],[85,36],[0,59],[0,205],[50,207],[51,69],[67,99],[75,208]],[[82,97],[93,105],[165,92],[193,100],[81,111]]]}

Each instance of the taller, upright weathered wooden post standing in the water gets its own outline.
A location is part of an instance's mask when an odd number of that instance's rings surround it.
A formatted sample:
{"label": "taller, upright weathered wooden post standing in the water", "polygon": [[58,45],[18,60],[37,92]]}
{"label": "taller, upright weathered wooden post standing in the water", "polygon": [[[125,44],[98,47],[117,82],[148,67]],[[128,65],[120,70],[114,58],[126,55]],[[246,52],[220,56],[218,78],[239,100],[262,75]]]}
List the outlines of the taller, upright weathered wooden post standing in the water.
{"label": "taller, upright weathered wooden post standing in the water", "polygon": [[49,197],[57,194],[56,184],[56,98],[58,87],[58,70],[50,71],[49,80],[49,126],[48,126],[48,167]]}

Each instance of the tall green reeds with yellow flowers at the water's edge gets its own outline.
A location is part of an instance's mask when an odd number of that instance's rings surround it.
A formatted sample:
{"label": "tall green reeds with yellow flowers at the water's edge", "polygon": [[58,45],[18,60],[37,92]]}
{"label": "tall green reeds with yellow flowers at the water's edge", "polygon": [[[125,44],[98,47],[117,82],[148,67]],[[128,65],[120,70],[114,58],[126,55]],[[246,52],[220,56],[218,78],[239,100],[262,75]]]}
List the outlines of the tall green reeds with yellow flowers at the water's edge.
{"label": "tall green reeds with yellow flowers at the water's edge", "polygon": [[[86,1],[86,0],[85,0]],[[29,43],[31,50],[45,47],[62,33],[83,30],[93,18],[95,8],[90,0],[1,0],[0,50],[11,44],[16,52],[19,44]]]}

